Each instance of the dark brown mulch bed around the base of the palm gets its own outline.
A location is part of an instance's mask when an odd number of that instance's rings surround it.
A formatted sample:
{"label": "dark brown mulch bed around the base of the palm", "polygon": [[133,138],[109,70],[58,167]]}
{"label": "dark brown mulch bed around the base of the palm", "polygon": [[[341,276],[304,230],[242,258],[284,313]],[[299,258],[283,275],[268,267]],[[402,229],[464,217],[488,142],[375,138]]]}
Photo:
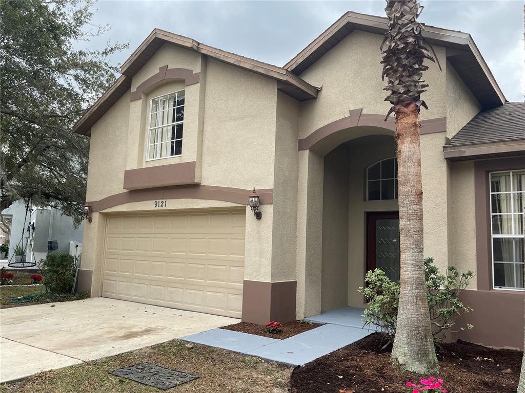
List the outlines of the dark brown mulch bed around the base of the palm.
{"label": "dark brown mulch bed around the base of the palm", "polygon": [[[382,334],[364,339],[320,357],[292,374],[292,393],[404,393],[407,381],[421,376],[398,372],[390,365],[390,352],[381,351]],[[518,387],[522,352],[493,350],[458,341],[442,344],[438,353],[443,386],[449,393],[514,393]]]}

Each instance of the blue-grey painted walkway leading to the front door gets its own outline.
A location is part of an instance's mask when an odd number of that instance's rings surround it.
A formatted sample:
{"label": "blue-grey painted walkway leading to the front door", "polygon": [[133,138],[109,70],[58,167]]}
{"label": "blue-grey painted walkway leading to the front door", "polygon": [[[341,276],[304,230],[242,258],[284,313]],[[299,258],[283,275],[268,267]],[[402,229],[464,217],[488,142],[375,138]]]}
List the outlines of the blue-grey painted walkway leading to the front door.
{"label": "blue-grey painted walkway leading to the front door", "polygon": [[345,307],[313,316],[308,319],[312,322],[326,324],[285,340],[224,329],[212,329],[192,334],[182,337],[182,340],[297,366],[311,362],[373,333],[373,331],[362,329],[362,311]]}

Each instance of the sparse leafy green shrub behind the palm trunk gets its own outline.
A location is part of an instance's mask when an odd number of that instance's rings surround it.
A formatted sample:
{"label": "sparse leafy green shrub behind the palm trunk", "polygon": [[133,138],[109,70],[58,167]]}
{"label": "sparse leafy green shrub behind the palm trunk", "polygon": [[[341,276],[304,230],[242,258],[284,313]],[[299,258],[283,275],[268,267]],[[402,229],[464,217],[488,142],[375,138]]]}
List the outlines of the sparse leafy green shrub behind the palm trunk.
{"label": "sparse leafy green shrub behind the palm trunk", "polygon": [[[424,264],[432,334],[435,341],[442,341],[446,332],[458,331],[453,330],[458,316],[472,310],[459,300],[459,296],[469,285],[474,273],[472,271],[460,273],[454,266],[449,266],[447,274],[442,275],[434,265],[433,258],[425,259]],[[377,330],[394,335],[401,290],[400,282],[391,281],[383,270],[374,269],[366,273],[365,283],[364,288],[358,289],[368,302],[363,312],[364,325],[374,326]],[[468,324],[459,330],[473,327]]]}

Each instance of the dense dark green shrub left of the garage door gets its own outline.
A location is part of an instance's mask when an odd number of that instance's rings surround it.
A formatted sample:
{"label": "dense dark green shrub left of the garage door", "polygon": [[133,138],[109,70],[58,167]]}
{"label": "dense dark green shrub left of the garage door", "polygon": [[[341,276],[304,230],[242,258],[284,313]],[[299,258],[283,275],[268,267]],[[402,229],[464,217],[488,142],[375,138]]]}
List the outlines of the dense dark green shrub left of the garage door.
{"label": "dense dark green shrub left of the garage door", "polygon": [[70,293],[75,280],[77,261],[66,253],[49,254],[41,262],[44,284],[50,293]]}

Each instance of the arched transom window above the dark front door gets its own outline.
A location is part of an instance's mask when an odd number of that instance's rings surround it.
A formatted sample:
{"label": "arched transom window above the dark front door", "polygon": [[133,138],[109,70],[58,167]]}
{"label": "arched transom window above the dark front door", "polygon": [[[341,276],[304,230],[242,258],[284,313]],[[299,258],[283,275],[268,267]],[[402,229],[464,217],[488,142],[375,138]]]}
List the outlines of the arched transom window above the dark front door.
{"label": "arched transom window above the dark front door", "polygon": [[385,158],[366,168],[366,199],[397,199],[397,160]]}

